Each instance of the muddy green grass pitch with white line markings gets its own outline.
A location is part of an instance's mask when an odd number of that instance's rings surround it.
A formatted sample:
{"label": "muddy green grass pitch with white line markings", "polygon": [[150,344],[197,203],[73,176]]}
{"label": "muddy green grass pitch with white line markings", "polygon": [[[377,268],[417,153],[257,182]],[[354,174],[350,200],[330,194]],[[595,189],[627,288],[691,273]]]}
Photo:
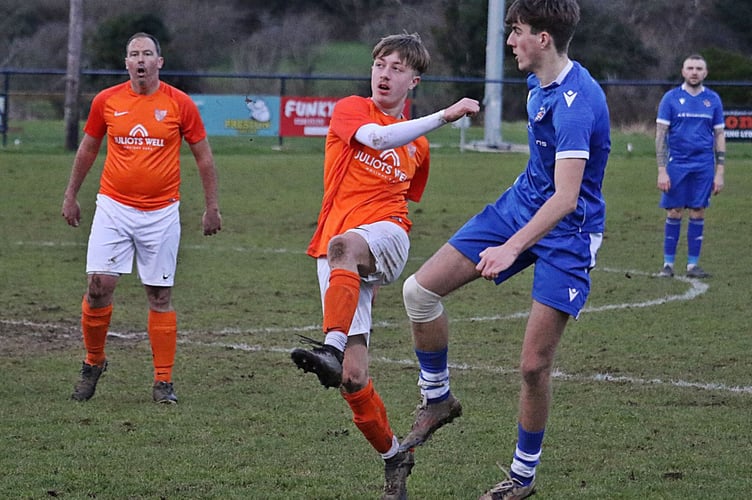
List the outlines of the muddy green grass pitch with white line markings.
{"label": "muddy green grass pitch with white line markings", "polygon": [[[468,140],[480,129],[468,131]],[[69,400],[83,356],[80,301],[102,155],[60,216],[73,155],[59,123],[28,122],[0,149],[0,497],[42,499],[379,498],[382,462],[341,396],[290,361],[320,337],[305,255],[321,197],[323,141],[212,139],[224,228],[200,230],[202,193],[184,158],[174,302],[180,404],[151,402],[146,299],[135,276],[115,297],[110,368],[94,398]],[[504,124],[520,141],[524,127]],[[15,145],[14,139],[20,144]],[[460,152],[429,135],[432,174],[406,278],[524,167],[523,154]],[[627,152],[632,143],[632,152]],[[653,138],[614,131],[608,223],[586,311],[556,364],[540,499],[745,498],[752,491],[749,307],[752,147],[730,143],[726,189],[707,211],[703,281],[653,276],[662,261]],[[685,223],[686,227],[686,223]],[[683,268],[684,233],[677,259]],[[404,435],[418,403],[402,280],[375,309],[371,375]],[[516,371],[530,273],[447,298],[462,418],[416,452],[413,499],[470,499],[501,478],[516,439]]]}

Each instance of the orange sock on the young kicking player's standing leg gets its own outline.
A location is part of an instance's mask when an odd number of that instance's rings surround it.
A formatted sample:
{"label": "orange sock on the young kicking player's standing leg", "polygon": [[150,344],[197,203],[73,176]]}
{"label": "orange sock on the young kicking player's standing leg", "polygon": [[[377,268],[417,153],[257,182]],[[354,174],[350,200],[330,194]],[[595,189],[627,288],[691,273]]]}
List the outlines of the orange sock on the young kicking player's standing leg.
{"label": "orange sock on the young kicking player's standing leg", "polygon": [[381,396],[373,388],[373,381],[352,394],[342,392],[347,404],[353,411],[353,423],[360,429],[371,446],[379,453],[386,453],[392,447],[394,433],[389,427],[386,407]]}

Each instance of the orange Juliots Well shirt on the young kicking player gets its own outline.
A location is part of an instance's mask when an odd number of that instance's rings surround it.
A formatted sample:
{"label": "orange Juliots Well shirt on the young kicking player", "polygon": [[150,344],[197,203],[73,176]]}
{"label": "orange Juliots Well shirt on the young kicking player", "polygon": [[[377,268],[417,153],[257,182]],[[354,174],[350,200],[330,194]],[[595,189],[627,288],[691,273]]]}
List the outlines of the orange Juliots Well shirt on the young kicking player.
{"label": "orange Juliots Well shirt on the young kicking player", "polygon": [[408,200],[420,201],[428,181],[428,139],[383,151],[355,140],[368,123],[402,121],[371,99],[346,97],[334,107],[324,152],[324,196],[308,255],[326,255],[329,240],[362,224],[389,220],[410,231]]}

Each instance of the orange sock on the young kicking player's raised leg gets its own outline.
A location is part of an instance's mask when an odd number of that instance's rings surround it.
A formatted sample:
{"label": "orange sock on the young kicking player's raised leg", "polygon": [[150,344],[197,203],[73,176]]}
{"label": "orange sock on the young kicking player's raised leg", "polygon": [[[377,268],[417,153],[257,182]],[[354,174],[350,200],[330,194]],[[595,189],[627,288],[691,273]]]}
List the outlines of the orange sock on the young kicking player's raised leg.
{"label": "orange sock on the young kicking player's raised leg", "polygon": [[332,269],[324,295],[324,332],[347,334],[358,308],[360,276],[347,269]]}

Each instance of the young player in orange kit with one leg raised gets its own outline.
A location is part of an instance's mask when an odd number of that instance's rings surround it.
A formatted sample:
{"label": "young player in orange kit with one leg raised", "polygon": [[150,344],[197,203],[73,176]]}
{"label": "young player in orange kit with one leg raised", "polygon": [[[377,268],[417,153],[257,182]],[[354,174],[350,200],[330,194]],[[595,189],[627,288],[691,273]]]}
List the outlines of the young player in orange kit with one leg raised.
{"label": "young player in orange kit with one leg raised", "polygon": [[[430,61],[417,34],[383,38],[373,49],[370,98],[350,96],[332,114],[324,155],[324,196],[308,255],[317,260],[323,344],[292,359],[325,387],[340,388],[353,422],[385,460],[385,499],[406,496],[411,451],[399,452],[386,408],[368,374],[376,287],[394,282],[407,262],[408,200],[419,201],[429,167],[423,134],[478,112],[463,98],[431,115],[405,120],[408,93]],[[318,344],[316,341],[313,343]]]}

